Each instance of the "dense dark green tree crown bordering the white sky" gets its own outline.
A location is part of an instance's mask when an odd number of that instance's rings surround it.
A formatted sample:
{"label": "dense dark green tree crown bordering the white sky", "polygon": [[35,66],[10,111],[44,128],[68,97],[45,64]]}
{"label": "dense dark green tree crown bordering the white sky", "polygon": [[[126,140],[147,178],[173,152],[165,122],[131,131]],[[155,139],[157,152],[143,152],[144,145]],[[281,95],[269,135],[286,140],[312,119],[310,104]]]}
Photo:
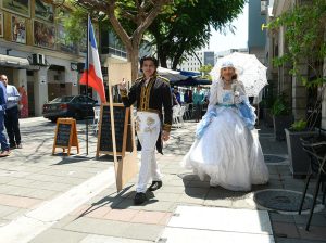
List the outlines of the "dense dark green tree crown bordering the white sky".
{"label": "dense dark green tree crown bordering the white sky", "polygon": [[167,67],[172,61],[172,69],[184,61],[185,54],[209,43],[212,28],[234,31],[230,22],[237,17],[247,0],[200,0],[178,1],[171,11],[160,14],[149,26],[154,37],[160,64]]}

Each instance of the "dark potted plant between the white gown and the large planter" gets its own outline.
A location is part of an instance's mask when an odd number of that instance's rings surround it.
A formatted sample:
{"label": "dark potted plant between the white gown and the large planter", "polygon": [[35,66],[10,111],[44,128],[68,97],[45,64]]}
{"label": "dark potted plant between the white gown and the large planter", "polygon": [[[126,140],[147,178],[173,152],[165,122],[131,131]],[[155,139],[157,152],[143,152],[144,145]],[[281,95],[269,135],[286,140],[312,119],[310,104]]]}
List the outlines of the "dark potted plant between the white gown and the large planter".
{"label": "dark potted plant between the white gown and the large planter", "polygon": [[289,106],[285,101],[284,94],[278,95],[271,108],[273,115],[274,135],[278,141],[285,140],[285,128],[289,128],[292,124],[292,115],[290,114]]}

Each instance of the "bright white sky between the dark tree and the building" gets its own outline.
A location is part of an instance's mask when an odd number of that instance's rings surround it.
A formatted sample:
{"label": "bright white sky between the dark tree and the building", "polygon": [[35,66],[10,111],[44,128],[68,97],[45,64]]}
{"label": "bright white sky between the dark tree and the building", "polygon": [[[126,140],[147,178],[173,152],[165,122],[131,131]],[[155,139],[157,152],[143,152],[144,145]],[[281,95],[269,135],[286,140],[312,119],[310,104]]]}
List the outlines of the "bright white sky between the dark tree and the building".
{"label": "bright white sky between the dark tree and the building", "polygon": [[242,13],[233,22],[236,27],[235,35],[229,30],[226,35],[216,30],[212,31],[210,47],[205,50],[221,52],[229,49],[247,48],[248,42],[248,3],[246,3]]}

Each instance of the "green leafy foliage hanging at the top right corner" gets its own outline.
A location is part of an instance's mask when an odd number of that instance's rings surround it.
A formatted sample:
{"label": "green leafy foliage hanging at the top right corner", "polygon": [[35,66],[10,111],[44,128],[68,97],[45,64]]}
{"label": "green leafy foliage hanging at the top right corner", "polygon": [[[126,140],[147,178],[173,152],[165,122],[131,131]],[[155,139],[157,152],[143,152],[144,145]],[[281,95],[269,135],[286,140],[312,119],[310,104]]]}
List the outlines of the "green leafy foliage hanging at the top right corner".
{"label": "green leafy foliage hanging at the top right corner", "polygon": [[[283,56],[274,59],[274,65],[286,63],[292,66],[294,75],[306,87],[318,87],[326,82],[322,66],[326,57],[325,40],[326,1],[312,0],[310,3],[296,5],[274,20],[268,28],[272,31],[285,27],[285,39],[288,49]],[[300,66],[308,64],[314,78],[308,80],[300,74]]]}

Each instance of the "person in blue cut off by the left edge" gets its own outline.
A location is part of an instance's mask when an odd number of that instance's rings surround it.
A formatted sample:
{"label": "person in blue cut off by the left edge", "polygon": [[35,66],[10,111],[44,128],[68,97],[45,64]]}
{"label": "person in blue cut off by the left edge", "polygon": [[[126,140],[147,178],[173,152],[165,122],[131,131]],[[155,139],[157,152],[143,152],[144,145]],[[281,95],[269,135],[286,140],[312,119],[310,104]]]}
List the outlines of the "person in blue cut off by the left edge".
{"label": "person in blue cut off by the left edge", "polygon": [[4,135],[4,126],[3,126],[5,104],[7,104],[7,90],[3,82],[0,81],[0,143],[1,143],[0,157],[5,157],[10,154],[9,144]]}

